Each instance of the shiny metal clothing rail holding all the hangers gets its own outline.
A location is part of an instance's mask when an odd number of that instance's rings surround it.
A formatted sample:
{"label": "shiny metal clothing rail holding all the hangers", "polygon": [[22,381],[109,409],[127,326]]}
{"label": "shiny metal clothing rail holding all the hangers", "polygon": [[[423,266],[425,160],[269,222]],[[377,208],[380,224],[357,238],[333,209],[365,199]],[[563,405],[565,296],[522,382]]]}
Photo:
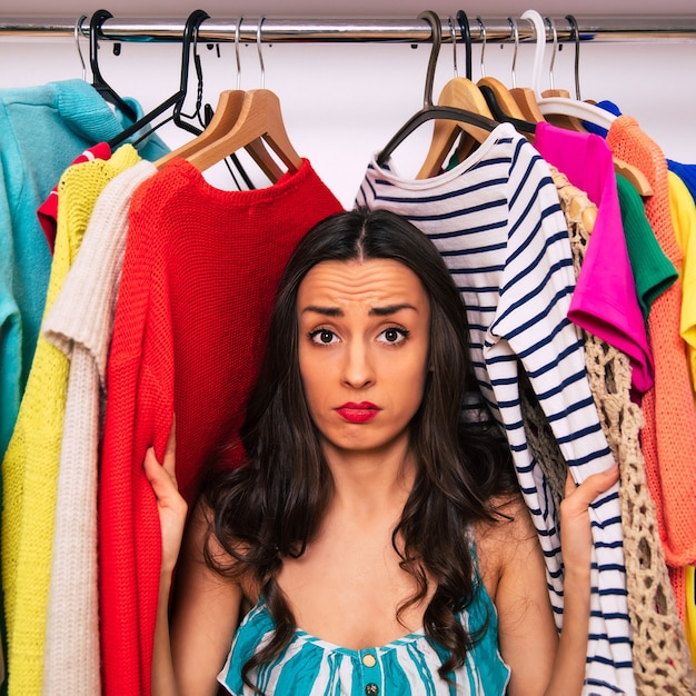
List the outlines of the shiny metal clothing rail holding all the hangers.
{"label": "shiny metal clothing rail holding all the hangers", "polygon": [[[239,27],[239,41],[257,41],[258,17],[245,18]],[[511,20],[503,18],[469,17],[473,42],[507,42],[511,40]],[[534,41],[531,22],[515,19],[519,41]],[[575,33],[567,17],[550,17],[558,41],[575,41]],[[443,41],[451,41],[447,17],[443,17]],[[696,14],[675,17],[576,17],[580,41],[650,42],[696,41]],[[233,41],[238,18],[210,18],[199,29],[198,39],[205,42]],[[113,41],[180,41],[186,18],[109,18],[101,27],[100,39]],[[89,20],[79,18],[30,18],[0,16],[0,41],[6,38],[20,40],[46,40],[47,38],[72,39],[79,27],[82,36],[89,36]],[[547,29],[550,40],[550,27]],[[317,42],[401,42],[427,43],[430,28],[419,19],[275,19],[265,18],[261,41],[264,43],[317,43]]]}

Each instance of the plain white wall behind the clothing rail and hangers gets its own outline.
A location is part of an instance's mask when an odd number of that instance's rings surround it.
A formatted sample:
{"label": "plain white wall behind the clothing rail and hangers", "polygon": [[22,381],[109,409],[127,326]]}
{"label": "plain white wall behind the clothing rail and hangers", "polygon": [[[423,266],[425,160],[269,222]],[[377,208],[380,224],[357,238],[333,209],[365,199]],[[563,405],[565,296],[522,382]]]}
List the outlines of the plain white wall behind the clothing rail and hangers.
{"label": "plain white wall behind the clothing rail and hangers", "polygon": [[[317,19],[334,17],[416,17],[421,9],[414,0],[402,2],[359,2],[331,4],[309,0],[274,0],[266,7],[238,3],[233,8],[220,0],[197,3],[211,17],[306,17]],[[441,17],[456,13],[448,6],[429,7]],[[440,4],[443,4],[440,2]],[[568,2],[559,6],[546,0],[528,6],[519,0],[501,2],[489,0],[475,7],[466,7],[471,20],[481,17],[519,17],[528,7],[543,13],[561,16],[567,12],[578,18],[600,13],[598,0]],[[604,2],[606,4],[606,2]],[[79,2],[69,0],[60,6],[60,16],[89,14],[99,7],[107,7],[117,17],[179,17],[185,18],[193,8],[182,0],[168,2]],[[256,9],[253,7],[256,6]],[[622,7],[623,6],[623,7]],[[664,6],[664,3],[663,3]],[[321,9],[324,8],[324,9]],[[370,9],[372,8],[372,9]],[[692,14],[696,19],[694,0],[669,0],[662,7],[666,14]],[[261,10],[261,12],[260,12]],[[643,12],[642,12],[643,10]],[[634,0],[614,2],[613,14],[649,13],[654,8]],[[58,14],[48,0],[3,0],[2,17],[38,17]],[[521,20],[524,21],[524,20]],[[132,96],[146,111],[157,106],[178,89],[180,47],[178,44],[123,43],[121,54],[115,57],[100,51],[100,66],[105,78],[121,95]],[[87,60],[88,42],[82,41]],[[205,101],[213,107],[223,89],[237,84],[235,50],[230,43],[216,51],[200,47],[205,73]],[[547,58],[550,54],[547,46]],[[241,47],[242,89],[260,86],[256,47]],[[517,58],[517,84],[529,86],[534,47],[521,44]],[[408,44],[328,44],[286,43],[264,46],[266,87],[280,98],[286,127],[296,150],[308,157],[315,169],[334,190],[341,202],[350,206],[360,185],[370,156],[384,147],[396,130],[422,103],[424,79],[429,49]],[[474,46],[474,80],[480,77],[480,44]],[[497,77],[511,87],[511,44],[486,47],[486,73]],[[464,74],[464,48],[458,51],[459,74]],[[557,54],[555,86],[574,92],[574,53],[566,44]],[[625,112],[634,116],[643,129],[663,148],[665,155],[679,161],[696,162],[696,41],[690,42],[617,42],[583,43],[580,52],[580,86],[584,99],[612,99]],[[545,73],[546,74],[546,73]],[[81,77],[81,66],[74,42],[68,39],[8,39],[0,33],[0,88],[40,84],[52,80]],[[192,77],[192,76],[191,76]],[[435,83],[435,97],[445,82],[454,77],[451,46],[444,46],[440,53]],[[87,78],[89,79],[89,69]],[[548,87],[547,83],[541,86]],[[190,95],[195,95],[191,82]],[[190,109],[192,101],[187,102]],[[186,141],[190,135],[165,126],[160,131],[171,146]],[[430,138],[430,126],[421,126],[395,152],[397,166],[404,173],[415,173]],[[266,183],[262,175],[249,167],[258,185]],[[220,168],[207,173],[221,188],[233,188],[229,176]]]}

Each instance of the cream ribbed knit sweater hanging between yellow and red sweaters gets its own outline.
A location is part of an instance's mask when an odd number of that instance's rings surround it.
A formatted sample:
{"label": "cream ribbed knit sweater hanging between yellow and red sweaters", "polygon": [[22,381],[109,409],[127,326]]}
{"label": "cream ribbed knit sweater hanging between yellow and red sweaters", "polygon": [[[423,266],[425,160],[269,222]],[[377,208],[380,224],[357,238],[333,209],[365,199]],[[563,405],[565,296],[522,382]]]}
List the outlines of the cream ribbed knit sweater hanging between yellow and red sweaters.
{"label": "cream ribbed knit sweater hanging between yellow and red sweaters", "polygon": [[80,252],[43,322],[46,339],[70,359],[46,626],[46,696],[101,693],[97,470],[107,357],[130,199],[156,171],[141,160],[100,193]]}

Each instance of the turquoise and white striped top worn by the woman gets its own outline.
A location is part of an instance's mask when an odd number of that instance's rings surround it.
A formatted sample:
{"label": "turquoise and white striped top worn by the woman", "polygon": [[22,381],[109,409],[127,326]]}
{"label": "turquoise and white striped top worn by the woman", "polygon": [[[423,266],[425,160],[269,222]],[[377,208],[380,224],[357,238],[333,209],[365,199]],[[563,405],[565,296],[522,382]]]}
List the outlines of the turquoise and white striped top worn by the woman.
{"label": "turquoise and white striped top worn by the woman", "polygon": [[[471,604],[459,615],[463,626],[476,630],[488,625],[467,653],[465,664],[450,675],[456,686],[437,673],[447,650],[431,645],[418,630],[388,645],[364,650],[339,647],[297,629],[289,645],[270,664],[250,672],[266,696],[503,696],[510,677],[498,650],[496,609],[479,580]],[[241,679],[241,668],[262,642],[270,639],[274,619],[264,598],[237,629],[218,680],[233,696],[252,690]]]}

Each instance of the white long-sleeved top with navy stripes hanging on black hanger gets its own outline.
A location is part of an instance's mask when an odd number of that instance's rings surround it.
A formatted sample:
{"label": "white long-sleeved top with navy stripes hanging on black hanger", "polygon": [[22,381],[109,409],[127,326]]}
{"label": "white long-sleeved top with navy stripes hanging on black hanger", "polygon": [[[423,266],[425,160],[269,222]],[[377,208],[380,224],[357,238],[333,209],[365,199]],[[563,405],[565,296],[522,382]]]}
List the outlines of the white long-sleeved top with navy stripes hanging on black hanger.
{"label": "white long-sleeved top with navy stripes hanging on black hanger", "polygon": [[[567,318],[575,274],[548,165],[503,123],[466,160],[431,179],[405,179],[374,160],[356,205],[392,210],[421,229],[459,288],[476,377],[505,428],[560,627],[558,517],[527,445],[518,370],[527,372],[576,481],[606,469],[613,458],[587,381],[579,329]],[[630,695],[636,687],[618,486],[594,504],[590,518],[593,595],[584,694]]]}

